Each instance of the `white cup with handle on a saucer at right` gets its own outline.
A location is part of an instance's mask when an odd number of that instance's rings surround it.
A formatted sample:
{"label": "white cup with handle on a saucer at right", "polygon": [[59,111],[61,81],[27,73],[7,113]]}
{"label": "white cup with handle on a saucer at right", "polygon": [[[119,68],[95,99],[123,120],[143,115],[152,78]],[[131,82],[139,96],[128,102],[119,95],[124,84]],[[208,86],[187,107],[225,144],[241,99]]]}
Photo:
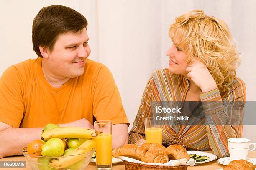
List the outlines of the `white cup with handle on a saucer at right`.
{"label": "white cup with handle on a saucer at right", "polygon": [[[253,149],[249,149],[250,145],[254,145]],[[256,143],[246,138],[229,138],[228,150],[232,160],[246,159],[248,150],[256,149]]]}

